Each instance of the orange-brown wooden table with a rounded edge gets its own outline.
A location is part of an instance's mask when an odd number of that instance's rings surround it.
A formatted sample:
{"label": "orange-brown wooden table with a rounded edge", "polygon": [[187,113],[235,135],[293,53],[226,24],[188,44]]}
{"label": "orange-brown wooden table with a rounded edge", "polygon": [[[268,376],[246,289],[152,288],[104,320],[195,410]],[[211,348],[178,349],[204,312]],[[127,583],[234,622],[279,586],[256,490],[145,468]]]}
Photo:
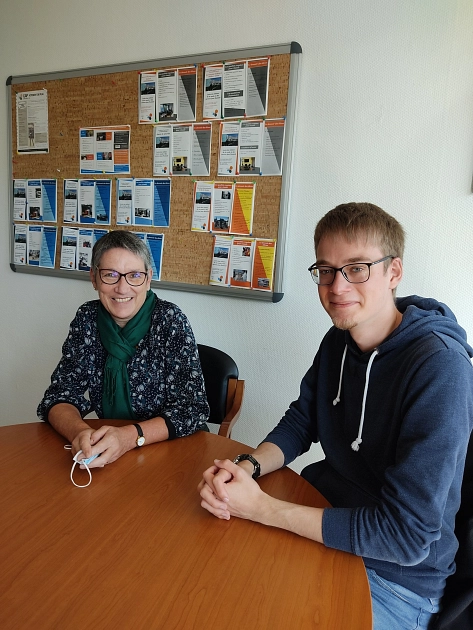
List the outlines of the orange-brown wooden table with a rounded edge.
{"label": "orange-brown wooden table with a rounded edge", "polygon": [[[202,471],[248,447],[199,432],[130,451],[76,488],[64,443],[44,423],[0,428],[2,630],[371,628],[360,558],[200,507]],[[327,505],[289,469],[260,483]]]}

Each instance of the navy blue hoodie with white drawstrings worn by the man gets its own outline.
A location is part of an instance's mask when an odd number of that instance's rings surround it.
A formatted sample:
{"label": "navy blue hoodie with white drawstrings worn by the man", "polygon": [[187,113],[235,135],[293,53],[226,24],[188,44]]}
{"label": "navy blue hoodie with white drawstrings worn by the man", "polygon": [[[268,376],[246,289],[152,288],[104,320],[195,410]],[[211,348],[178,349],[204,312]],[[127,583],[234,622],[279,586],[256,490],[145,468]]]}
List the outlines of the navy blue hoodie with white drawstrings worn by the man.
{"label": "navy blue hoodie with white drawstrings worn by the man", "polygon": [[363,353],[332,327],[266,442],[290,463],[320,441],[302,475],[331,503],[325,545],[424,597],[454,572],[455,515],[473,427],[473,349],[433,299],[396,302],[401,324]]}

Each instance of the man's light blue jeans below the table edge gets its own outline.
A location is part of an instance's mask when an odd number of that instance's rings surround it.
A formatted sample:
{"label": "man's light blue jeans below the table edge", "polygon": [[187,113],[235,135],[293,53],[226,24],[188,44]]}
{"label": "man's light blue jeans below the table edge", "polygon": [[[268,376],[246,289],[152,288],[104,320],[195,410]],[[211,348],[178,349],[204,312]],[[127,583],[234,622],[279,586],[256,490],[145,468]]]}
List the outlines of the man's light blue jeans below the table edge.
{"label": "man's light blue jeans below the table edge", "polygon": [[373,603],[374,630],[427,630],[440,600],[421,597],[366,569]]}

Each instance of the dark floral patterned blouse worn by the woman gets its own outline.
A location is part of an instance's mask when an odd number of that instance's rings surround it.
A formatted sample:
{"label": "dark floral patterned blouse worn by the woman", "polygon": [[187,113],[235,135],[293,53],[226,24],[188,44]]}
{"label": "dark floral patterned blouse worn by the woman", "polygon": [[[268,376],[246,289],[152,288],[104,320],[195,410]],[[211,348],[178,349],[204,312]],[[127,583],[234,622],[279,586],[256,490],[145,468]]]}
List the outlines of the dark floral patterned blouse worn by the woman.
{"label": "dark floral patterned blouse worn by the woman", "polygon": [[[61,402],[74,405],[82,417],[95,411],[103,418],[107,353],[97,329],[98,305],[98,300],[83,304],[70,325],[62,358],[38,406],[42,420]],[[207,420],[209,407],[194,334],[175,304],[156,299],[150,329],[127,369],[133,411],[142,420],[164,418],[170,439],[194,433]]]}

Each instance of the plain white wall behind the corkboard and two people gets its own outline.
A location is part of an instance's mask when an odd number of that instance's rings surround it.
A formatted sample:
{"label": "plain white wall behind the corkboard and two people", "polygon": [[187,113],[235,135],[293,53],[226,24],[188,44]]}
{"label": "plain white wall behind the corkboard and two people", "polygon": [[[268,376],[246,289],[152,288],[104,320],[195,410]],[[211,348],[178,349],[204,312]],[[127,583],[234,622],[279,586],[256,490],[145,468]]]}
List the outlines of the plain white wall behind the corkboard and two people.
{"label": "plain white wall behind the corkboard and two people", "polygon": [[[0,80],[302,45],[284,299],[254,304],[160,292],[188,315],[198,341],[235,357],[247,387],[234,438],[256,445],[297,396],[329,326],[306,269],[315,223],[339,203],[371,201],[401,221],[408,243],[398,294],[447,302],[473,341],[473,5],[273,0],[239,14],[242,7],[230,0],[2,0]],[[0,424],[36,419],[69,321],[94,297],[85,282],[10,271],[6,129],[1,99]]]}

